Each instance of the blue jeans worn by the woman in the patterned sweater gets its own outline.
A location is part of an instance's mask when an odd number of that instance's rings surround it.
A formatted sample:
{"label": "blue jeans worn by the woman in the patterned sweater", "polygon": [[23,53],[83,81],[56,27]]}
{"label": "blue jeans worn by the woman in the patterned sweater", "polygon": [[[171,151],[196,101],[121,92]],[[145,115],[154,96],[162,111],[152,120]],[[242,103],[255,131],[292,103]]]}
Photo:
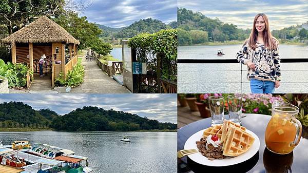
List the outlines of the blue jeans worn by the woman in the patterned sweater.
{"label": "blue jeans worn by the woman in the patterned sweater", "polygon": [[251,91],[252,93],[274,93],[275,82],[251,79]]}

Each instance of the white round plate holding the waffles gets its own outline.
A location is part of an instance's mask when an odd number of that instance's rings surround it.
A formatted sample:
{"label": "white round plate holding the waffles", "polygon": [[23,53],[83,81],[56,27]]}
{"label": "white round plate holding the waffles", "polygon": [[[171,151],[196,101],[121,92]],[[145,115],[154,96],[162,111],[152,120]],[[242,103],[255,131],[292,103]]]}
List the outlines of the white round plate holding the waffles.
{"label": "white round plate holding the waffles", "polygon": [[[204,130],[205,129],[200,130],[195,134],[192,134],[192,136],[189,137],[188,140],[185,142],[184,149],[197,149],[198,150],[196,141],[200,141],[200,139],[202,138]],[[246,132],[251,134],[255,138],[255,142],[252,145],[252,147],[248,149],[248,151],[246,151],[245,153],[243,153],[240,156],[226,157],[225,159],[222,159],[222,160],[219,160],[219,159],[208,160],[205,156],[201,155],[201,152],[197,152],[197,153],[188,155],[188,157],[192,161],[199,163],[199,164],[202,164],[202,165],[206,165],[206,166],[229,166],[229,165],[235,165],[235,164],[238,164],[238,163],[242,163],[242,162],[252,158],[258,152],[258,150],[260,148],[260,140],[259,140],[258,136],[250,130],[246,129]]]}

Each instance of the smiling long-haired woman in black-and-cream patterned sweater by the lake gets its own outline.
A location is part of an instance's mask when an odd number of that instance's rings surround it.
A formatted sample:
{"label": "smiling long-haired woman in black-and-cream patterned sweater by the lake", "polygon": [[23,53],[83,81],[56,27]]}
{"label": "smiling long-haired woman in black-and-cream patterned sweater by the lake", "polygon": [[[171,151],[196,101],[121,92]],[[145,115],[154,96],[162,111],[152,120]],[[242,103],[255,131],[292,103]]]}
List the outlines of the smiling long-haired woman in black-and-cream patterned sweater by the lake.
{"label": "smiling long-haired woman in black-and-cream patterned sweater by the lake", "polygon": [[267,16],[255,16],[249,39],[245,41],[236,57],[239,63],[247,65],[247,79],[252,93],[274,93],[280,86],[280,57],[278,40],[269,30]]}

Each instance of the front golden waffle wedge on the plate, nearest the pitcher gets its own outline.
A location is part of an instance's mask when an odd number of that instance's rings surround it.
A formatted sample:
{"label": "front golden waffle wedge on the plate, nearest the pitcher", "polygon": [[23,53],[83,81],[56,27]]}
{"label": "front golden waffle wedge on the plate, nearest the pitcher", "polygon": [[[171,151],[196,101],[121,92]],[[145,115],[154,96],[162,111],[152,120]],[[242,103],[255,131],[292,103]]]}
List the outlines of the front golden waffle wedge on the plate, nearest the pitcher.
{"label": "front golden waffle wedge on the plate, nearest the pitcher", "polygon": [[241,128],[233,125],[229,126],[225,142],[223,143],[223,155],[236,157],[246,152],[253,144],[255,138],[242,130]]}

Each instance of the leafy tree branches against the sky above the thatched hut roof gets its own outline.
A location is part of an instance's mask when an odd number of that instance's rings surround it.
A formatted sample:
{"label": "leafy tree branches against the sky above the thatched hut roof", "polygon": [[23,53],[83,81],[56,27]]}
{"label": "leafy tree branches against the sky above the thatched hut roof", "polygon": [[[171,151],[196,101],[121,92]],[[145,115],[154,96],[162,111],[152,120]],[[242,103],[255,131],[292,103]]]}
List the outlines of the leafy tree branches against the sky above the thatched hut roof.
{"label": "leafy tree branches against the sky above the thatched hut roof", "polygon": [[83,11],[92,1],[82,0],[2,0],[0,2],[0,21],[6,25],[8,32],[13,28],[21,29],[40,16],[57,17],[66,11]]}

